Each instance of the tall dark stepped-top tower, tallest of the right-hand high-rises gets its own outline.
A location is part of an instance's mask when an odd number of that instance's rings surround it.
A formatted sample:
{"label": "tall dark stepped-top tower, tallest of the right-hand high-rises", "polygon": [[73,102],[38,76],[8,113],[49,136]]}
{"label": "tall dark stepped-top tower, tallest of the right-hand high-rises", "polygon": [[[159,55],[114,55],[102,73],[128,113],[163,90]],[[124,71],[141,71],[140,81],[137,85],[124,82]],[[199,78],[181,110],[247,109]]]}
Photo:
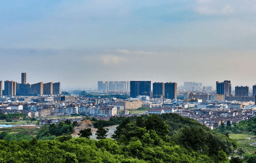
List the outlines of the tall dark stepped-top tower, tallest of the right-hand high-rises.
{"label": "tall dark stepped-top tower, tallest of the right-hand high-rises", "polygon": [[231,82],[224,81],[218,82],[216,81],[216,94],[223,94],[224,100],[226,96],[231,96]]}

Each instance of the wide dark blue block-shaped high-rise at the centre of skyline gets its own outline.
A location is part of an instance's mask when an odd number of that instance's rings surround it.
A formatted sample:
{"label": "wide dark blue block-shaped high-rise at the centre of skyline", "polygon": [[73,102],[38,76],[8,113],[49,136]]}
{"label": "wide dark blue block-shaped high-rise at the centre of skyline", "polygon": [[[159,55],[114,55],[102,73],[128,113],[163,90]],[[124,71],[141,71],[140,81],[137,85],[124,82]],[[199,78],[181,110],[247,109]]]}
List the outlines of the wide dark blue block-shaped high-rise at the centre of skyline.
{"label": "wide dark blue block-shaped high-rise at the centre of skyline", "polygon": [[151,81],[130,81],[130,96],[136,98],[139,95],[151,92]]}

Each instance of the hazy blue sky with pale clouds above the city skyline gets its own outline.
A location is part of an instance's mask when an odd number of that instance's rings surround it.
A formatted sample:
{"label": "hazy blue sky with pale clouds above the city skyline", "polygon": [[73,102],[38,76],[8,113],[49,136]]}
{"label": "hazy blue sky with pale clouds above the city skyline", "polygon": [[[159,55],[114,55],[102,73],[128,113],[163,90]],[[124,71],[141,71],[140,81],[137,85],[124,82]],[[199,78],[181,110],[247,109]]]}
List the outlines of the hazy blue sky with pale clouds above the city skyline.
{"label": "hazy blue sky with pale clouds above the city skyline", "polygon": [[0,0],[0,80],[256,84],[254,0]]}

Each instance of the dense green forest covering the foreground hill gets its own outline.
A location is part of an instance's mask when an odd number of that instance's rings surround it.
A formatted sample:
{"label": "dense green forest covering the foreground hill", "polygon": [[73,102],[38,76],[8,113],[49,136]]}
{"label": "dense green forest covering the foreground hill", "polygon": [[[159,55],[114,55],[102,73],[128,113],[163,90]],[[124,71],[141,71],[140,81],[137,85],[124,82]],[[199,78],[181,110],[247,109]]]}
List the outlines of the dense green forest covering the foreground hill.
{"label": "dense green forest covering the foreground hill", "polygon": [[[114,117],[94,126],[119,124],[111,138],[88,139],[90,130],[72,138],[70,121],[45,125],[36,137],[0,134],[0,162],[66,163],[229,163],[236,141],[178,114]],[[103,130],[102,130],[103,131]],[[89,133],[89,134],[88,134]],[[100,132],[98,132],[100,133]],[[104,132],[106,134],[106,131]],[[86,136],[85,136],[86,135]],[[15,136],[15,135],[14,135]],[[22,136],[21,136],[22,137]],[[255,155],[244,155],[250,162]]]}

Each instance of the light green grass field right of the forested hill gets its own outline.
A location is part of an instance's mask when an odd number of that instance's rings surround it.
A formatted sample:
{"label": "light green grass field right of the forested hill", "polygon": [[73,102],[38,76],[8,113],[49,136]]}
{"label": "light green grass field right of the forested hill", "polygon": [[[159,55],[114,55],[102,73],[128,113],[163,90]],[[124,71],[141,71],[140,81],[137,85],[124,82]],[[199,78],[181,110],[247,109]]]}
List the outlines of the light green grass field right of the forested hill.
{"label": "light green grass field right of the forested hill", "polygon": [[[256,136],[252,134],[229,134],[229,137],[231,139],[235,139],[238,143],[238,148],[242,147],[245,151],[248,151],[249,153],[256,152],[256,146],[250,145],[251,143],[256,142]],[[250,140],[247,139],[247,137],[250,137]]]}

